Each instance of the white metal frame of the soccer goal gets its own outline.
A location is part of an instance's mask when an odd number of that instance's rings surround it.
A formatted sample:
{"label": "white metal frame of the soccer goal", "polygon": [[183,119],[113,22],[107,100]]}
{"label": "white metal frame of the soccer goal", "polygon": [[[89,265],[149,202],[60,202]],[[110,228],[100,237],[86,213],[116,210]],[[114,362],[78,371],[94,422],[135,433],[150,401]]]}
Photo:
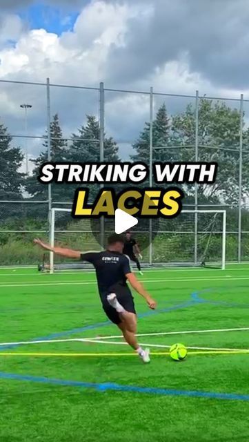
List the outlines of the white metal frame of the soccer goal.
{"label": "white metal frame of the soccer goal", "polygon": [[[71,209],[61,209],[59,207],[53,207],[50,217],[50,245],[54,247],[54,226],[55,226],[55,213],[67,212],[71,213]],[[197,249],[197,222],[199,213],[221,213],[222,215],[222,247],[221,247],[221,270],[226,268],[226,210],[204,210],[204,209],[183,209],[181,213],[194,213],[195,214],[195,249]],[[150,265],[152,265],[152,244],[150,244]],[[54,253],[50,251],[50,273],[54,273]]]}

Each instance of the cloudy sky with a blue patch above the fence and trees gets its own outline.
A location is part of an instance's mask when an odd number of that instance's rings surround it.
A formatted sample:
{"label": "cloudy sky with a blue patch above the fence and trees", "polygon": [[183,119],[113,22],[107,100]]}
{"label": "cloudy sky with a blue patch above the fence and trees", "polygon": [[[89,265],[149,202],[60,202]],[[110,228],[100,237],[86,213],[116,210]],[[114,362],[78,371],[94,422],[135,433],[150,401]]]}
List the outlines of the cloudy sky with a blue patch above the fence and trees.
{"label": "cloudy sky with a blue patch above the fence and trees", "polygon": [[[248,22],[248,0],[0,0],[0,79],[248,99]],[[98,115],[98,99],[52,87],[51,112],[70,135],[86,113]],[[174,112],[191,99],[157,96],[155,111],[163,101]],[[23,103],[32,104],[29,134],[42,135],[44,86],[0,83],[0,121],[14,135],[24,131]],[[106,92],[106,132],[123,157],[148,116],[148,95]],[[30,157],[40,148],[30,140]]]}

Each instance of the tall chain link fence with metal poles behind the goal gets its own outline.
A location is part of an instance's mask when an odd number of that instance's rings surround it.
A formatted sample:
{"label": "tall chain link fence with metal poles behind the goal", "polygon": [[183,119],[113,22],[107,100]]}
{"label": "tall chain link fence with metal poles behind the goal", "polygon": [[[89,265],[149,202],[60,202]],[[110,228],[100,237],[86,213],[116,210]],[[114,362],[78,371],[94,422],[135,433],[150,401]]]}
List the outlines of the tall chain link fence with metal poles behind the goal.
{"label": "tall chain link fence with metal poles behind the goal", "polygon": [[[48,160],[142,160],[150,168],[155,161],[216,161],[217,182],[183,186],[183,206],[226,209],[227,260],[249,260],[249,102],[243,96],[85,88],[49,79],[1,80],[0,89],[6,103],[0,118],[0,265],[39,262],[33,238],[49,240],[52,207],[72,204],[76,186],[37,181]],[[152,173],[148,184],[154,185]],[[186,232],[198,247],[198,219]]]}

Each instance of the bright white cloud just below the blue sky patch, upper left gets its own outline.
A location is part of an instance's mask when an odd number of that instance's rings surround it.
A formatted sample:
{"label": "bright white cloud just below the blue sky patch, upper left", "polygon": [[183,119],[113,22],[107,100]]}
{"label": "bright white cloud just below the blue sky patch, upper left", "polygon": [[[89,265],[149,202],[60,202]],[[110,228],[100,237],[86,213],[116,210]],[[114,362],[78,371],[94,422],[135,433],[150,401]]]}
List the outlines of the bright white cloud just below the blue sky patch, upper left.
{"label": "bright white cloud just below the blue sky patch, upper left", "polygon": [[14,48],[0,51],[0,77],[28,81],[51,77],[52,81],[85,85],[99,82],[106,75],[110,46],[123,44],[126,24],[136,10],[92,1],[72,32],[58,37],[42,29],[28,31]]}

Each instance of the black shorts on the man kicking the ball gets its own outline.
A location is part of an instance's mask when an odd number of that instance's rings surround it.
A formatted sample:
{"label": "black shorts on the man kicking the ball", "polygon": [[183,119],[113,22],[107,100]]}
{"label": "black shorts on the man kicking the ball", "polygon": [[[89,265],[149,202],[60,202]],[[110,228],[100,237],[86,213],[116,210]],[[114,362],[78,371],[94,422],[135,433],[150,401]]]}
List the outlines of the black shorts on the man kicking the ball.
{"label": "black shorts on the man kicking the ball", "polygon": [[[129,289],[114,289],[112,291],[117,296],[117,300],[122,305],[122,307],[129,311],[130,313],[136,314],[135,304],[133,300],[133,296],[130,293]],[[116,325],[120,324],[122,321],[119,317],[118,312],[109,304],[108,300],[102,299],[103,303],[103,311],[106,313],[106,316],[110,321]]]}

